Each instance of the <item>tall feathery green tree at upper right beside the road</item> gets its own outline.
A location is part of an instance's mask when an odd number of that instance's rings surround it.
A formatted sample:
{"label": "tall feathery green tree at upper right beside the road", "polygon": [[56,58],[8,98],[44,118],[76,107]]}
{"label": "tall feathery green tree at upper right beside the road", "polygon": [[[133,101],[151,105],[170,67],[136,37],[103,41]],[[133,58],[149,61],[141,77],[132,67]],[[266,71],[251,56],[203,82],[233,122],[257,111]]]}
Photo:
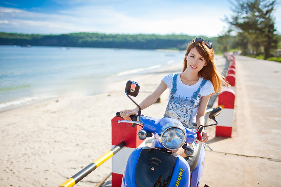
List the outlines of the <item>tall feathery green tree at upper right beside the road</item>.
{"label": "tall feathery green tree at upper right beside the road", "polygon": [[270,50],[276,49],[278,43],[272,16],[276,0],[236,0],[231,3],[235,15],[229,23],[238,28],[238,35],[247,36],[255,55],[258,55],[262,46],[264,59],[269,58]]}

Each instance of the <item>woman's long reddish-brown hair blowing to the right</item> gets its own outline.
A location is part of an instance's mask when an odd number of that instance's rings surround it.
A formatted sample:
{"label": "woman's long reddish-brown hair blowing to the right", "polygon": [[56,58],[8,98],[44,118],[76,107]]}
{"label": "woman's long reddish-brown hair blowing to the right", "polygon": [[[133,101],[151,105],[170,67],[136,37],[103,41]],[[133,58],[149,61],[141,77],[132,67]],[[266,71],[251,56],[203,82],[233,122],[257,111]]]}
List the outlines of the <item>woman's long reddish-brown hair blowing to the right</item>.
{"label": "woman's long reddish-brown hair blowing to the right", "polygon": [[206,60],[207,63],[207,65],[205,65],[202,70],[198,72],[198,75],[203,79],[210,80],[214,86],[215,93],[220,93],[222,86],[228,86],[229,84],[225,80],[225,77],[219,73],[218,68],[214,62],[214,49],[209,49],[207,46],[205,46],[204,42],[195,43],[191,41],[189,43],[185,53],[185,60],[182,72],[184,72],[187,68],[186,57],[189,54],[190,50],[194,47],[199,52],[199,54],[202,55],[202,57]]}

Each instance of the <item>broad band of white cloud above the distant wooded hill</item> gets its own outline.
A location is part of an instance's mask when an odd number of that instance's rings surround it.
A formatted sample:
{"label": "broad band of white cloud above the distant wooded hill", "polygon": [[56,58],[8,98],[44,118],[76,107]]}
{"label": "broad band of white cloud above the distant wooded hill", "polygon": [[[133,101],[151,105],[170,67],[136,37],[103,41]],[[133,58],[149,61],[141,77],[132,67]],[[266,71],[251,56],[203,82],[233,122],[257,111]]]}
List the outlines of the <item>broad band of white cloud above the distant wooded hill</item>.
{"label": "broad band of white cloud above the distant wooded hill", "polygon": [[56,13],[0,7],[0,28],[8,32],[42,34],[101,32],[218,36],[227,27],[221,19],[229,14],[230,9],[219,6],[201,5],[198,8],[180,4],[173,4],[173,7],[140,5],[139,8],[87,4]]}

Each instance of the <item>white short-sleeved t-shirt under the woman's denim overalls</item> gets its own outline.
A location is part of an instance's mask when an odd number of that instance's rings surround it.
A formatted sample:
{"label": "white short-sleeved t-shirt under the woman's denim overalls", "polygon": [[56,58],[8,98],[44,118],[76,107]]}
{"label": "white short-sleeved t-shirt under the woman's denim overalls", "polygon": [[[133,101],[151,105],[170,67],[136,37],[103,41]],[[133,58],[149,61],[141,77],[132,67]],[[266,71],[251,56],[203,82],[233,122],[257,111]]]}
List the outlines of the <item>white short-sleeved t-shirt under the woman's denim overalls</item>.
{"label": "white short-sleeved t-shirt under the woman's denim overalls", "polygon": [[[174,74],[170,73],[162,79],[167,84],[167,87],[170,90],[170,93],[171,93],[171,89],[173,88],[173,78],[174,78]],[[203,78],[200,77],[196,84],[188,86],[186,84],[183,84],[183,82],[180,79],[180,74],[179,74],[177,77],[177,87],[176,87],[176,92],[175,92],[176,97],[183,98],[183,99],[191,99],[193,93],[196,92],[197,89],[199,88],[202,80],[203,80]],[[200,92],[195,100],[192,118],[191,118],[192,123],[196,122],[196,114],[197,114],[198,107],[199,107],[199,104],[201,101],[201,97],[210,95],[212,93],[214,93],[214,86],[210,82],[210,80],[208,80],[205,83],[205,85],[200,89]]]}

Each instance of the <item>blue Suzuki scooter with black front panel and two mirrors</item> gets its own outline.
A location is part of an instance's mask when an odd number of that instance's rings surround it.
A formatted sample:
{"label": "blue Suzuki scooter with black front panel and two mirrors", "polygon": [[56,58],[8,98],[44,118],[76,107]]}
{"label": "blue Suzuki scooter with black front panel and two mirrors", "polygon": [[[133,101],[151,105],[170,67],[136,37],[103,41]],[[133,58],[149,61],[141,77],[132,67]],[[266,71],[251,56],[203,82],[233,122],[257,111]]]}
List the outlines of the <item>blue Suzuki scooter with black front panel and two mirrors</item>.
{"label": "blue Suzuki scooter with black front panel and two mirrors", "polygon": [[[126,84],[125,93],[136,105],[129,95],[136,97],[139,89],[140,85],[134,81]],[[200,141],[201,132],[204,127],[218,124],[215,117],[222,108],[210,112],[209,118],[215,124],[200,126],[199,130],[186,128],[176,119],[143,116],[139,109],[137,115],[130,116],[132,121],[119,122],[133,123],[133,127],[142,126],[137,133],[141,140],[153,134],[154,148],[140,147],[131,153],[123,174],[122,187],[198,187],[205,165],[204,146],[209,147]],[[119,112],[116,116],[121,117]],[[172,152],[180,147],[185,150],[187,157]]]}

